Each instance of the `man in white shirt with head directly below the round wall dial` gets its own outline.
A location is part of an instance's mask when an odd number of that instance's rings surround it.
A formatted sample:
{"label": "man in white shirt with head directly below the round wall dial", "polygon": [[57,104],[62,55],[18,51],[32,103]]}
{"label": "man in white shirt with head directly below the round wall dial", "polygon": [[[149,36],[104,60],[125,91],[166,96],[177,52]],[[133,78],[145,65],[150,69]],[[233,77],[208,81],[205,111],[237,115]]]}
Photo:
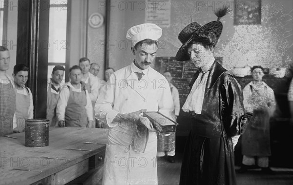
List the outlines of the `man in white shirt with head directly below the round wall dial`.
{"label": "man in white shirt with head directly below the round wall dial", "polygon": [[[93,74],[89,72],[90,61],[88,58],[86,57],[81,58],[79,61],[79,66],[81,67],[82,73],[83,73],[82,84],[84,86],[84,89],[88,91],[89,98],[92,102],[92,107],[94,107],[99,95],[99,89],[101,88],[99,79],[97,79],[96,76],[94,76]],[[95,115],[94,109],[92,111],[93,111],[93,120],[96,120],[94,117]],[[93,124],[92,126],[95,127],[95,124]]]}

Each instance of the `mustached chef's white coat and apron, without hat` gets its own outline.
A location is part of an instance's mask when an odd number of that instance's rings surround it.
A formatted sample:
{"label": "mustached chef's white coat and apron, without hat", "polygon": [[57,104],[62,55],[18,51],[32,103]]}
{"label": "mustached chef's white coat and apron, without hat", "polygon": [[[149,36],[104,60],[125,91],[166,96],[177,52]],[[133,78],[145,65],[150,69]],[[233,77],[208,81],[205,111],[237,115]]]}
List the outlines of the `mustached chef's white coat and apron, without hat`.
{"label": "mustached chef's white coat and apron, without hat", "polygon": [[[138,81],[134,66],[132,62],[114,72],[101,88],[95,104],[96,118],[110,127],[105,161],[117,164],[104,164],[104,184],[157,184],[156,132],[149,133],[145,153],[136,152],[131,148],[136,126],[127,126],[125,122],[115,121],[114,118],[118,113],[131,113],[140,109],[159,111],[172,117],[174,105],[170,87],[163,75],[149,67]],[[121,165],[122,161],[127,164]]]}

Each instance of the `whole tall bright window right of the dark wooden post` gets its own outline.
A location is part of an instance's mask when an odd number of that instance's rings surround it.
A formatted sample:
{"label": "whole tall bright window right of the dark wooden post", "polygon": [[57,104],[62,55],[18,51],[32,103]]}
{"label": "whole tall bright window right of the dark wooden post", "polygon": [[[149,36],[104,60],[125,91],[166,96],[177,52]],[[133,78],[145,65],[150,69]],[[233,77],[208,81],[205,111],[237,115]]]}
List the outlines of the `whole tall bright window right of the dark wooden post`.
{"label": "whole tall bright window right of the dark wooden post", "polygon": [[[48,41],[48,79],[55,65],[66,63],[67,0],[50,0],[49,41]],[[64,74],[63,81],[65,81]]]}

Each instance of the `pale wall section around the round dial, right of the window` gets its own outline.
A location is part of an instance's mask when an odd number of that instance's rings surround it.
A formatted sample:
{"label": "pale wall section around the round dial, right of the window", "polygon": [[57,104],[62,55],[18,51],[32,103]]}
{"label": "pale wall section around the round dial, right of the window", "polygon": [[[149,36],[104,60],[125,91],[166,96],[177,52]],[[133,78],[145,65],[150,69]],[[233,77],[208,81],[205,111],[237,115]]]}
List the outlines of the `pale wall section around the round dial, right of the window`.
{"label": "pale wall section around the round dial, right of the window", "polygon": [[72,0],[70,39],[68,40],[70,54],[69,66],[78,65],[79,59],[87,57],[91,62],[100,65],[99,78],[104,78],[105,50],[99,46],[105,41],[105,22],[99,28],[92,28],[88,18],[92,13],[99,12],[105,18],[105,0]]}

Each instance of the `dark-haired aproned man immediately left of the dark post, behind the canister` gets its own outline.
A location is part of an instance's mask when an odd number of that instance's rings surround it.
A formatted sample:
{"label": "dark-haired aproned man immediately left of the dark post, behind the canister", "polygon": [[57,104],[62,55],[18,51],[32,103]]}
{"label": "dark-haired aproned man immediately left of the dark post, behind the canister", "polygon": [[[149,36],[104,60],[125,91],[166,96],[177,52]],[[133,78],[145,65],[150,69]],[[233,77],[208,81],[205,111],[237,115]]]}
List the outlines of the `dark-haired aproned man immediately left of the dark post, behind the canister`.
{"label": "dark-haired aproned man immediately left of the dark post, behind the canister", "polygon": [[34,118],[34,104],[31,90],[25,86],[28,79],[28,67],[17,64],[13,68],[15,94],[16,94],[16,123],[14,132],[22,132],[25,128],[25,120]]}

